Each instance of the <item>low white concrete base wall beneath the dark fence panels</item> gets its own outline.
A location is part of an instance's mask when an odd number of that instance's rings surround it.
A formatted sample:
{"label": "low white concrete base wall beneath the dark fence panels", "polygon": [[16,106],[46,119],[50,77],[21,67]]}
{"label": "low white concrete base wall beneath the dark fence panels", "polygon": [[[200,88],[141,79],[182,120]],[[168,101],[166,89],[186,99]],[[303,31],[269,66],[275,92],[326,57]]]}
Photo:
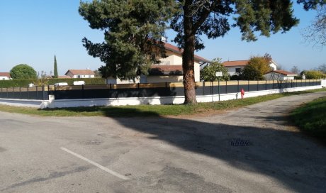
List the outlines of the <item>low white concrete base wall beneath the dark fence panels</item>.
{"label": "low white concrete base wall beneath the dark fence panels", "polygon": [[[326,86],[326,82],[324,87]],[[267,94],[277,94],[282,92],[298,92],[309,89],[320,89],[322,86],[313,87],[296,87],[287,89],[272,89],[264,91],[245,92],[245,98],[262,96]],[[232,99],[241,99],[240,93],[230,94],[213,94],[205,96],[196,96],[198,102],[212,102],[212,101],[227,101]],[[110,98],[110,99],[67,99],[55,100],[53,95],[49,96],[49,100],[20,100],[20,99],[0,99],[0,104],[12,106],[28,106],[40,109],[45,108],[65,108],[65,107],[79,107],[79,106],[124,106],[124,105],[139,105],[139,104],[183,104],[184,96],[154,96],[154,97],[130,97],[130,98]]]}

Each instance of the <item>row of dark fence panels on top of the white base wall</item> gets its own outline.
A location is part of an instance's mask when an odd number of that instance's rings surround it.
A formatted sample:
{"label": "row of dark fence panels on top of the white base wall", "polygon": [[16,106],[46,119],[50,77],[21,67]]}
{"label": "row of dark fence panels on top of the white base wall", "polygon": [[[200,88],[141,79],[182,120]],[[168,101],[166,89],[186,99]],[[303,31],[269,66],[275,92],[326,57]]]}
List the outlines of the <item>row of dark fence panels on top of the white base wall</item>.
{"label": "row of dark fence panels on top of the white base wall", "polygon": [[[196,82],[196,95],[237,93],[241,89],[244,89],[245,92],[254,92],[269,89],[309,87],[320,84],[320,80]],[[5,99],[47,100],[49,94],[55,95],[55,99],[184,96],[184,85],[182,82],[163,82],[156,84],[104,84],[0,89],[0,98]]]}

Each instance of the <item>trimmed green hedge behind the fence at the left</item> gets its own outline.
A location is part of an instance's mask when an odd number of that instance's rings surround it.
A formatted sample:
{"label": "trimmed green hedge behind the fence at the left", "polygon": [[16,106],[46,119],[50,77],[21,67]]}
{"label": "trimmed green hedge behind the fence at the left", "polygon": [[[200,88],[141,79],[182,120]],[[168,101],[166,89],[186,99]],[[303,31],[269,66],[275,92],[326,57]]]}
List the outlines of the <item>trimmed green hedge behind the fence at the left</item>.
{"label": "trimmed green hedge behind the fence at the left", "polygon": [[[73,85],[74,81],[84,80],[86,85],[92,84],[106,84],[106,79],[103,78],[75,78],[75,79],[47,79],[47,84],[53,85],[57,82],[67,82],[69,85]],[[9,87],[28,87],[28,84],[37,82],[36,79],[9,79],[0,80],[1,88]]]}

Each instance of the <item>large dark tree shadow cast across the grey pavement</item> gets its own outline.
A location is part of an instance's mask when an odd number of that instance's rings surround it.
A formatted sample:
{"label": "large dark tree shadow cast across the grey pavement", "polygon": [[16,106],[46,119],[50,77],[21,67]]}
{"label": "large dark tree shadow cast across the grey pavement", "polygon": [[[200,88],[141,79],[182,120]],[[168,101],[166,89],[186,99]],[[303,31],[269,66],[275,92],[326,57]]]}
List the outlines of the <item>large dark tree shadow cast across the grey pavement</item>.
{"label": "large dark tree shadow cast across the grey pavement", "polygon": [[[326,189],[325,146],[298,132],[167,117],[115,120],[127,128],[151,134],[153,140],[225,160],[239,170],[272,177],[293,192]],[[238,140],[249,145],[232,145]]]}

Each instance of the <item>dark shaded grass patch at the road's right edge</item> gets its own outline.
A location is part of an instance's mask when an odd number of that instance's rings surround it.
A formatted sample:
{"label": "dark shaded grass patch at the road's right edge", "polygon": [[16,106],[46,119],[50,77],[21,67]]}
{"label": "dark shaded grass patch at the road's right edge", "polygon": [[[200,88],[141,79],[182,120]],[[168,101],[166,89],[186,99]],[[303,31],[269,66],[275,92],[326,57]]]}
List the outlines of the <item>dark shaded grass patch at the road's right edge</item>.
{"label": "dark shaded grass patch at the road's right edge", "polygon": [[301,131],[326,143],[326,97],[295,109],[291,119]]}

